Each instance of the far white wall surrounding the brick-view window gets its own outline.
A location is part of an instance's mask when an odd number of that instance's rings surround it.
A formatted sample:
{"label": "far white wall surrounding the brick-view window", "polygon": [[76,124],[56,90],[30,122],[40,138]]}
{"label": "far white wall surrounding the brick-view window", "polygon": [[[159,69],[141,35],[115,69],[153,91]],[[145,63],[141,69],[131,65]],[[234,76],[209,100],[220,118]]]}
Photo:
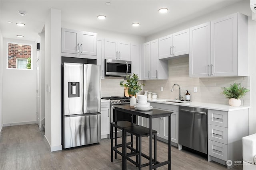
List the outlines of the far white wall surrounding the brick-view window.
{"label": "far white wall surrounding the brick-view window", "polygon": [[[32,45],[32,70],[6,68],[9,42]],[[4,126],[36,123],[36,44],[4,38],[2,46]]]}

